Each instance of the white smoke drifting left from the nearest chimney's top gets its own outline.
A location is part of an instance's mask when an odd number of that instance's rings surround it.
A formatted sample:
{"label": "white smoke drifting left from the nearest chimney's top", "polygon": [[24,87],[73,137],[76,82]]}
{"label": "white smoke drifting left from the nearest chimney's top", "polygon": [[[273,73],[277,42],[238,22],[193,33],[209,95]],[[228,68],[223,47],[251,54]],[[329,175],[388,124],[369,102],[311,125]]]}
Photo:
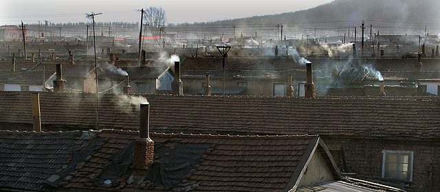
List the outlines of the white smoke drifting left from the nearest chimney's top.
{"label": "white smoke drifting left from the nearest chimney's top", "polygon": [[140,104],[149,104],[148,100],[141,95],[117,95],[117,104],[119,110],[125,113],[131,113],[133,111],[140,110]]}

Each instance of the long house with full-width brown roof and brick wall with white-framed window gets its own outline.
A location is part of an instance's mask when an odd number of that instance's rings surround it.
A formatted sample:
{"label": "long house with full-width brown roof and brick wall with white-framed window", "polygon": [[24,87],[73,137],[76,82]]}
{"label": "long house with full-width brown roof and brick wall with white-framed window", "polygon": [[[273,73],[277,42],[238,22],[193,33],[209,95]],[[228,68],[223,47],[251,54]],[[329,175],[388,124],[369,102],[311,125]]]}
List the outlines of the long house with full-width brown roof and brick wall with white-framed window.
{"label": "long house with full-width brown roof and brick wall with white-framed window", "polygon": [[[0,92],[0,128],[30,130],[31,93]],[[319,134],[345,173],[408,191],[439,189],[434,151],[440,145],[437,97],[206,97],[40,93],[43,130],[137,130],[137,105],[151,104],[152,132]],[[97,121],[98,120],[98,123]],[[68,122],[68,123],[64,123]],[[99,128],[98,127],[98,128]],[[390,167],[389,156],[399,156]],[[393,158],[394,158],[393,157]],[[393,165],[394,166],[394,165]],[[394,174],[390,174],[393,172]]]}

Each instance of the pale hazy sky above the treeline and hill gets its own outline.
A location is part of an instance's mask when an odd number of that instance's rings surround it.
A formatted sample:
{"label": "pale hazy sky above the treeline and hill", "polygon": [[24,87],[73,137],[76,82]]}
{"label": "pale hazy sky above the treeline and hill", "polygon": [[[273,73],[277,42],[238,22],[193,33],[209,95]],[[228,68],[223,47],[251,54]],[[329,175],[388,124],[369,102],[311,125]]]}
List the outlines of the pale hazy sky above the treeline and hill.
{"label": "pale hazy sky above the treeline and hill", "polygon": [[332,0],[0,0],[0,25],[24,23],[87,22],[85,13],[102,13],[96,22],[140,21],[141,8],[157,7],[166,12],[168,23],[194,23],[279,14],[314,8]]}

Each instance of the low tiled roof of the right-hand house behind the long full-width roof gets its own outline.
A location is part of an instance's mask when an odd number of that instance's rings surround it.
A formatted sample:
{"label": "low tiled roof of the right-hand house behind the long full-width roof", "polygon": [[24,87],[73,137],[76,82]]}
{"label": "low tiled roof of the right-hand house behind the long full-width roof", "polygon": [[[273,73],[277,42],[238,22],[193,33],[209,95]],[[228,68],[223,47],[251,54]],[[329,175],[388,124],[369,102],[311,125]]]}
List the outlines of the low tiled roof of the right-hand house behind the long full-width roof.
{"label": "low tiled roof of the right-hand house behind the long full-width roof", "polygon": [[[256,58],[236,58],[230,57],[225,60],[227,70],[269,70],[283,71],[292,69],[303,69],[304,65],[299,64],[297,58],[287,57],[256,57]],[[333,67],[343,69],[350,67],[349,58],[307,58],[314,64],[316,70],[331,70]],[[422,59],[422,71],[440,71],[439,59]],[[413,71],[417,59],[364,59],[360,63],[371,66],[378,71]],[[181,58],[182,71],[214,71],[222,69],[221,56],[212,57],[185,57]]]}

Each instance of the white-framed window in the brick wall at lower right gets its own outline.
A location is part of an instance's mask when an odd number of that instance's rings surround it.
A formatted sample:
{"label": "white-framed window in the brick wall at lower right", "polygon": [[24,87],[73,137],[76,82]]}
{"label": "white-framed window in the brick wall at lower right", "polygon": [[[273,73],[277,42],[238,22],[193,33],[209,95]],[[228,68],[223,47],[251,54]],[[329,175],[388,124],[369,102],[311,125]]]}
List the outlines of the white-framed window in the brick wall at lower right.
{"label": "white-framed window in the brick wall at lower right", "polygon": [[412,180],[414,152],[383,150],[382,178]]}

